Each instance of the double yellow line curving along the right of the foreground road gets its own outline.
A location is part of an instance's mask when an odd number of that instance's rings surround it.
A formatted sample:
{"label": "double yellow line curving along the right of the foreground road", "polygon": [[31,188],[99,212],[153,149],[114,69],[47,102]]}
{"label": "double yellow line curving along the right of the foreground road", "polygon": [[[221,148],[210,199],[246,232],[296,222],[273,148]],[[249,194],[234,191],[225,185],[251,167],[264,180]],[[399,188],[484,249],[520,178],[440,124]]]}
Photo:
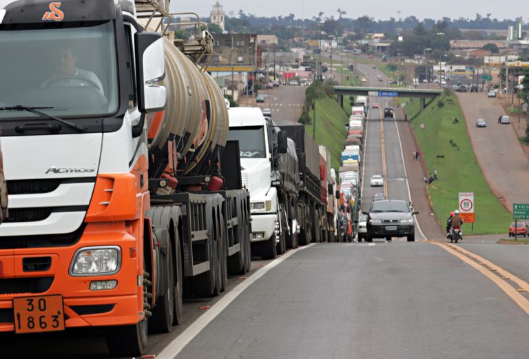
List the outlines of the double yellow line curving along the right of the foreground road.
{"label": "double yellow line curving along the right of the foreground road", "polygon": [[[514,300],[515,303],[523,311],[526,312],[526,314],[529,314],[529,300],[520,294],[521,291],[529,290],[528,283],[521,280],[520,278],[517,278],[517,276],[510,274],[505,269],[498,267],[497,265],[490,262],[489,260],[486,260],[485,258],[481,258],[480,256],[477,256],[476,254],[473,254],[472,252],[466,249],[462,249],[461,247],[450,245],[448,243],[435,242],[435,241],[431,241],[431,243],[438,245],[439,247],[442,247],[442,249],[446,250],[446,252],[461,259],[464,263],[470,265],[470,267],[477,269],[477,271],[479,271],[481,274],[483,274],[484,276],[492,280],[492,282],[494,282],[502,291],[504,291],[505,294],[507,294],[512,300]],[[470,259],[470,256],[473,256],[475,260]],[[495,269],[495,270],[491,271],[490,269]],[[504,278],[509,278],[509,279],[504,279]],[[513,287],[506,280],[511,280],[513,283],[516,283],[521,288]]]}

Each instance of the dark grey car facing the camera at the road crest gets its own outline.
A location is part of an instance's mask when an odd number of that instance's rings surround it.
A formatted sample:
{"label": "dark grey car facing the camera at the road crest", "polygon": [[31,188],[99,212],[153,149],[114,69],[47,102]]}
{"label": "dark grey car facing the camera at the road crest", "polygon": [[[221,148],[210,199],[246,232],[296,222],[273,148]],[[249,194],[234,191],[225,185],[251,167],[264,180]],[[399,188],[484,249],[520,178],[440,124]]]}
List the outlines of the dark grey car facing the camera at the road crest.
{"label": "dark grey car facing the camera at the road crest", "polygon": [[415,218],[406,201],[376,201],[371,204],[367,214],[366,242],[373,238],[406,237],[408,242],[415,241]]}

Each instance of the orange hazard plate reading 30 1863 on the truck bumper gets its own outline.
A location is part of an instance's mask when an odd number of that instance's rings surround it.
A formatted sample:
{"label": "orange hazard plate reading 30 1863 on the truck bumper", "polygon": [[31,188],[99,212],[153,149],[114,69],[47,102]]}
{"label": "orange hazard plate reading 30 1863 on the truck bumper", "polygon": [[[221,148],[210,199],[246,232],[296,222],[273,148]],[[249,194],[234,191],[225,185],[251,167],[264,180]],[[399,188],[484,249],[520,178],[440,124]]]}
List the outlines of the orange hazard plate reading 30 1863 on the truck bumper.
{"label": "orange hazard plate reading 30 1863 on the truck bumper", "polygon": [[13,298],[14,331],[17,334],[64,330],[63,297]]}

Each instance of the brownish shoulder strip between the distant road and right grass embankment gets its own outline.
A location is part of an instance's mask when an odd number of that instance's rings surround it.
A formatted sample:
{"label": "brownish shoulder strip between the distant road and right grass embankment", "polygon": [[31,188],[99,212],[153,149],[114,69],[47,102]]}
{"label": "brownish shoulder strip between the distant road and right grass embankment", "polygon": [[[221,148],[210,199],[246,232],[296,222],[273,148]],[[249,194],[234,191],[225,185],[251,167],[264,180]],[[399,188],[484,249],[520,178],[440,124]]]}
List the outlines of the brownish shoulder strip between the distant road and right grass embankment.
{"label": "brownish shoulder strip between the distant road and right grass embankment", "polygon": [[[402,108],[395,109],[395,116],[397,119],[404,119]],[[417,150],[419,145],[415,141],[411,123],[397,121],[397,126],[402,143],[402,152],[404,153],[406,174],[410,185],[411,201],[413,202],[414,209],[419,211],[419,214],[417,214],[419,225],[426,238],[444,239],[445,234],[433,214],[430,197],[428,196],[428,191],[426,191],[426,183],[422,180],[428,173],[426,172],[426,165],[424,165],[423,161],[415,161],[413,159],[413,151]]]}

